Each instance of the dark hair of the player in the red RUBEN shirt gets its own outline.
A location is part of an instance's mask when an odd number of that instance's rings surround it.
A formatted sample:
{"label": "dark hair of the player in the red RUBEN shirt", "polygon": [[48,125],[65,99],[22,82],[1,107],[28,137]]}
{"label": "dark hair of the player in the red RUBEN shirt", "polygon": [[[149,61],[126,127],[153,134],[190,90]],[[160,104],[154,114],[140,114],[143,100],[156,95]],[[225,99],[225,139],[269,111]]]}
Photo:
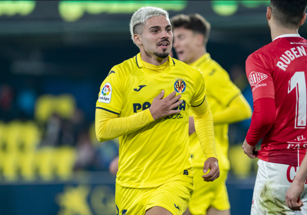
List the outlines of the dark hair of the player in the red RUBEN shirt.
{"label": "dark hair of the player in the red RUBEN shirt", "polygon": [[298,27],[307,7],[307,1],[271,1],[274,19],[286,28]]}

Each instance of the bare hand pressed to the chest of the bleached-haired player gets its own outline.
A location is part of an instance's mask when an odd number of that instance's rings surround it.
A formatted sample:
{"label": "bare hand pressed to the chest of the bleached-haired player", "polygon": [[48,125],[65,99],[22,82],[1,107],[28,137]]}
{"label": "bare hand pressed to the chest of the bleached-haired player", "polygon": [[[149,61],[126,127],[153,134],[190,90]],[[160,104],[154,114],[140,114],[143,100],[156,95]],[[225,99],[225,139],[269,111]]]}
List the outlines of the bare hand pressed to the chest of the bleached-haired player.
{"label": "bare hand pressed to the chest of the bleached-haired player", "polygon": [[178,110],[172,110],[172,109],[178,107],[182,103],[182,100],[177,101],[178,99],[181,98],[181,94],[175,96],[176,91],[173,91],[163,99],[164,93],[165,93],[164,90],[162,90],[162,92],[160,92],[159,95],[157,95],[153,99],[153,102],[149,108],[150,113],[154,120],[160,119],[168,115],[180,113],[179,109]]}

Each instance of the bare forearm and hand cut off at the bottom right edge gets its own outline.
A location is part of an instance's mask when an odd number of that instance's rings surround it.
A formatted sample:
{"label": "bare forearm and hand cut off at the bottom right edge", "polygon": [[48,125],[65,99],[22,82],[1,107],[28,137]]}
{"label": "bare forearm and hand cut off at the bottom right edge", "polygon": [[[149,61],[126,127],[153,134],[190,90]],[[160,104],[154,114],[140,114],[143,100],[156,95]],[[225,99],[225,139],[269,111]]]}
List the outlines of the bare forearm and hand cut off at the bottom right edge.
{"label": "bare forearm and hand cut off at the bottom right edge", "polygon": [[307,156],[303,159],[300,169],[297,171],[295,178],[286,193],[286,205],[291,210],[301,210],[303,206],[301,201],[301,194],[305,188],[305,182],[307,179]]}

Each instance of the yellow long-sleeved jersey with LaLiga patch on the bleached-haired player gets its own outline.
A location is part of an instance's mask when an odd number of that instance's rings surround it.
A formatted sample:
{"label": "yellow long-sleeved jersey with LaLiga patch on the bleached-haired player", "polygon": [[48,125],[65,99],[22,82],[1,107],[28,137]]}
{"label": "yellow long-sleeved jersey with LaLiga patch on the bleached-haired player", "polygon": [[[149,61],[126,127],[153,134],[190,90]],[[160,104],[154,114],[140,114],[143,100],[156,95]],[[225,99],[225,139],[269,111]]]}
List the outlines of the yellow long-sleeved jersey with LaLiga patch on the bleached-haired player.
{"label": "yellow long-sleeved jersey with LaLiga patch on the bleached-haired player", "polygon": [[[217,157],[202,73],[171,57],[156,69],[145,65],[139,53],[114,66],[101,85],[96,103],[97,138],[104,141],[119,137],[116,182],[124,187],[156,187],[179,175],[192,175],[190,108],[200,150],[206,157]],[[174,90],[181,93],[183,103],[174,108],[181,112],[153,120],[149,108],[162,90],[165,96]]]}

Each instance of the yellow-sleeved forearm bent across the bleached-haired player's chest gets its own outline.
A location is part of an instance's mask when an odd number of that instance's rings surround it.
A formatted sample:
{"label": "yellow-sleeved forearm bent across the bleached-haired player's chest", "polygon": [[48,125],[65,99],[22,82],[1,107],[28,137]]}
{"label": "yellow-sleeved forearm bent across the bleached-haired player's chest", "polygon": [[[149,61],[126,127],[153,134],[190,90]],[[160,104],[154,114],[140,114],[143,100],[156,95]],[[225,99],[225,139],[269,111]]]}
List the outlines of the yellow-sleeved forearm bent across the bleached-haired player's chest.
{"label": "yellow-sleeved forearm bent across the bleached-haired player's chest", "polygon": [[96,109],[95,130],[96,137],[100,142],[137,131],[154,121],[149,109],[128,117],[116,117],[117,115],[113,113]]}

